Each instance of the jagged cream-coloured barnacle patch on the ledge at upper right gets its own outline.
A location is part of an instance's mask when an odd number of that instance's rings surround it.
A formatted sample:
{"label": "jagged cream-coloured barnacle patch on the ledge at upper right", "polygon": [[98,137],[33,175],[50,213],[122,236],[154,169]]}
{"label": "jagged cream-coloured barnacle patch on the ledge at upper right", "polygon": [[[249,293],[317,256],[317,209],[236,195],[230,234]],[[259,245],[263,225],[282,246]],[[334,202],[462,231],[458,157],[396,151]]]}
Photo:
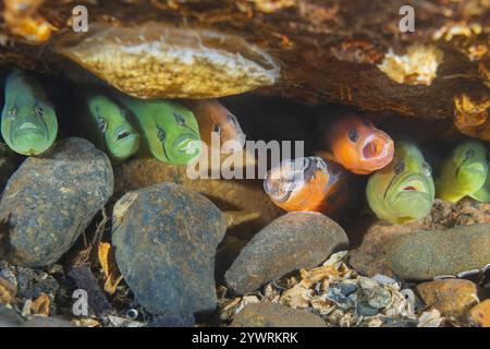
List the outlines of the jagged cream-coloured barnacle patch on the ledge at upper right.
{"label": "jagged cream-coloured barnacle patch on the ledge at upper right", "polygon": [[431,45],[411,46],[403,56],[390,49],[378,68],[400,84],[430,85],[443,56],[441,50]]}

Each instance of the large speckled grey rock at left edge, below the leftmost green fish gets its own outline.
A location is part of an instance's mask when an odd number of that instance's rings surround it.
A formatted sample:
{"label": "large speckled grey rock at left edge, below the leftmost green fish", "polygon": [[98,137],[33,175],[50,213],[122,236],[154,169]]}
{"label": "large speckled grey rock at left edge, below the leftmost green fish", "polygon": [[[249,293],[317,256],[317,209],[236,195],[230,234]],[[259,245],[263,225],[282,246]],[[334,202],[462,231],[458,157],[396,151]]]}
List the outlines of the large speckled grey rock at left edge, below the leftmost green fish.
{"label": "large speckled grey rock at left edge, below the leftmost green fish", "polygon": [[112,195],[113,182],[109,158],[82,139],[27,158],[0,198],[0,258],[30,267],[57,262]]}

